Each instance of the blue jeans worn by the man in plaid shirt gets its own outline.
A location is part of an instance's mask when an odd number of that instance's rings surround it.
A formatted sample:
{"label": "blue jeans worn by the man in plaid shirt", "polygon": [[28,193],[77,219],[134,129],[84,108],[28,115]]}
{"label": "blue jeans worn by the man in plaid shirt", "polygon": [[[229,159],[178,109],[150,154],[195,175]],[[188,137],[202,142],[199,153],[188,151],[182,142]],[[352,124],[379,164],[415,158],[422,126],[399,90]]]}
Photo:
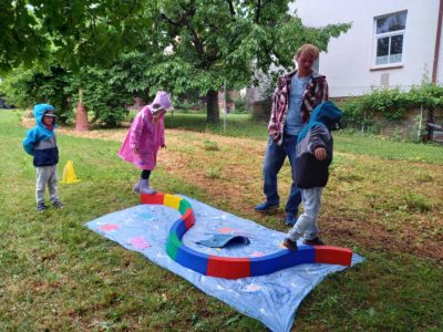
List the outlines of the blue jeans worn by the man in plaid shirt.
{"label": "blue jeans worn by the man in plaid shirt", "polygon": [[288,156],[292,173],[292,185],[285,210],[287,214],[297,215],[301,203],[300,189],[296,186],[296,152],[297,136],[285,135],[281,146],[278,146],[271,138],[268,139],[266,155],[262,166],[264,172],[264,193],[266,200],[271,205],[278,205],[280,197],[277,191],[277,175]]}

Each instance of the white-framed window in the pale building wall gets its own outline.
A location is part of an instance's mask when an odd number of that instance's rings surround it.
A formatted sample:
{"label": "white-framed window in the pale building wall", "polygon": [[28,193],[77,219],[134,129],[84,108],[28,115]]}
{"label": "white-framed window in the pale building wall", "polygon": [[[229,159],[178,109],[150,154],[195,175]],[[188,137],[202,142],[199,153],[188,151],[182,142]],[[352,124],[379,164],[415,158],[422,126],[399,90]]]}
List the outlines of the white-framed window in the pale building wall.
{"label": "white-framed window in the pale building wall", "polygon": [[375,18],[375,66],[398,64],[403,59],[406,11]]}

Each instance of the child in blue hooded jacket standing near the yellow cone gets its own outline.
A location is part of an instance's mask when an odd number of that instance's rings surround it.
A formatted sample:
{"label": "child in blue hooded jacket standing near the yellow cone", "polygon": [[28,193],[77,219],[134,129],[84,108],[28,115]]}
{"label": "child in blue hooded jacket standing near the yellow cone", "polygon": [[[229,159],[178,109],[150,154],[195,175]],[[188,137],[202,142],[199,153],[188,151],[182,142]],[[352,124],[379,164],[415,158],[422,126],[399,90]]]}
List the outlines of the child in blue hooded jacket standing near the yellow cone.
{"label": "child in blue hooded jacket standing near the yellow cone", "polygon": [[54,107],[48,104],[38,104],[33,112],[37,124],[27,132],[23,148],[33,156],[35,166],[37,210],[43,211],[48,208],[44,204],[45,186],[49,189],[51,204],[56,208],[62,208],[64,205],[60,201],[58,193],[59,149],[54,132],[56,127]]}

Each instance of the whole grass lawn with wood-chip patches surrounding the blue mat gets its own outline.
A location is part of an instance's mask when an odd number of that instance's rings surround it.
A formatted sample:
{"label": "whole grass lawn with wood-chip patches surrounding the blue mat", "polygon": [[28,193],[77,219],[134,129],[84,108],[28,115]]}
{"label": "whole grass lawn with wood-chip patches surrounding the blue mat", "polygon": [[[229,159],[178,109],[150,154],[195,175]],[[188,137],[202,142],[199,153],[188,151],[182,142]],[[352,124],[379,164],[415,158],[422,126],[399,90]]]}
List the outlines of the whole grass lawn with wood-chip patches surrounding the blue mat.
{"label": "whole grass lawn with wood-chip patches surrounding the blue mat", "polygon": [[[251,208],[264,198],[266,124],[231,115],[225,135],[216,135],[223,127],[205,127],[198,116],[166,120],[167,149],[153,185],[286,231],[281,208],[265,216]],[[60,184],[65,209],[41,214],[24,131],[20,113],[0,112],[0,331],[266,331],[84,227],[138,204],[131,191],[138,172],[116,156],[126,128],[61,129],[59,175],[72,159],[81,181]],[[367,260],[319,284],[295,329],[442,331],[443,148],[338,134],[336,152],[321,236]],[[289,186],[286,165],[281,197]]]}

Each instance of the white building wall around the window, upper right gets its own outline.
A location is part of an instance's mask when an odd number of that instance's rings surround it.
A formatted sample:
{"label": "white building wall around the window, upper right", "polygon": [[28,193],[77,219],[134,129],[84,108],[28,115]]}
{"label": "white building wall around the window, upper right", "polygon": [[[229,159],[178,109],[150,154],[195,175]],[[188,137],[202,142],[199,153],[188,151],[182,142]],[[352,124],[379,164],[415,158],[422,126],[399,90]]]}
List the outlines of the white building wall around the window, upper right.
{"label": "white building wall around the window, upper right", "polygon": [[[360,95],[381,86],[382,77],[389,86],[420,84],[424,75],[431,77],[439,0],[297,0],[289,10],[297,11],[305,25],[324,27],[351,22],[351,29],[331,39],[328,52],[320,54],[319,71],[326,74],[331,96]],[[401,68],[374,70],[374,18],[408,10]],[[441,59],[443,44],[441,45]],[[442,82],[443,64],[437,80]]]}

